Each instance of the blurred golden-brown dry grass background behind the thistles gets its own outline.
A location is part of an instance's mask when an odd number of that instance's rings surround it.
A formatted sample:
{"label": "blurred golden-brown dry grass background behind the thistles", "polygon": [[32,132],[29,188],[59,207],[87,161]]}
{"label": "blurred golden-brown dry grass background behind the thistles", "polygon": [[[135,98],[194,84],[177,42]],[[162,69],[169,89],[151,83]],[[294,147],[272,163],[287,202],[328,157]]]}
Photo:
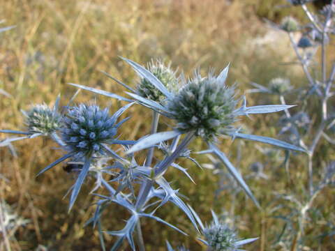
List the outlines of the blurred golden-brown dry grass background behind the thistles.
{"label": "blurred golden-brown dry grass background behind the thistles", "polygon": [[[267,85],[271,78],[278,76],[288,77],[299,88],[306,84],[306,79],[299,66],[285,64],[294,59],[288,39],[283,33],[271,31],[262,21],[265,17],[278,22],[288,14],[304,19],[298,8],[274,7],[285,4],[285,0],[0,0],[0,19],[6,20],[8,25],[17,25],[0,35],[0,89],[14,97],[0,98],[0,128],[23,128],[20,109],[28,109],[36,102],[53,103],[58,93],[61,93],[62,105],[66,105],[75,93],[75,89],[66,84],[68,82],[123,93],[123,89],[98,71],[104,70],[126,83],[135,82],[135,74],[118,56],[142,64],[151,58],[166,59],[186,75],[198,67],[204,72],[210,67],[220,70],[230,62],[228,83],[236,81],[241,94],[251,88],[249,82]],[[249,105],[278,103],[271,96],[264,98],[248,94],[247,98]],[[94,99],[91,94],[82,92],[76,100]],[[112,111],[119,106],[114,100],[101,96],[96,102],[112,105]],[[313,102],[310,105],[313,106]],[[129,114],[132,119],[123,126],[122,137],[137,139],[147,134],[147,121],[151,116],[147,109],[132,107]],[[275,121],[280,116],[253,116],[252,120],[242,122],[248,124],[248,130],[254,134],[276,137]],[[161,129],[164,127],[162,123]],[[248,246],[248,250],[260,250],[261,243],[262,250],[276,250],[271,245],[285,222],[267,213],[267,208],[278,203],[274,192],[301,191],[304,188],[306,165],[303,156],[300,160],[293,156],[291,176],[287,178],[285,169],[280,167],[281,161],[275,157],[269,161],[258,150],[266,146],[259,145],[257,149],[255,145],[258,144],[239,142],[238,139],[222,143],[223,151],[232,156],[243,174],[250,172],[248,167],[251,163],[267,162],[264,172],[269,176],[268,180],[248,179],[248,185],[265,212],[260,212],[252,201],[239,193],[234,204],[234,220],[241,237],[262,238],[262,242]],[[91,206],[93,196],[84,196],[91,184],[82,190],[74,210],[67,213],[68,198],[63,197],[73,184],[72,174],[59,166],[35,178],[38,170],[57,158],[59,151],[52,149],[54,145],[43,139],[17,142],[15,146],[20,158],[13,158],[8,149],[0,149],[0,173],[9,180],[0,180],[0,195],[31,222],[12,236],[13,250],[36,250],[38,245],[39,250],[43,247],[47,248],[45,250],[101,250],[97,231],[91,227],[83,228],[94,211],[94,206]],[[202,147],[193,145],[195,151]],[[240,162],[236,158],[237,149],[241,149]],[[327,144],[320,149],[323,151],[319,153],[321,168],[335,155],[334,149]],[[281,151],[278,154],[283,156]],[[209,162],[202,155],[198,160]],[[229,191],[214,196],[218,176],[208,169],[199,169],[192,162],[182,164],[188,167],[197,185],[174,170],[169,171],[168,178],[174,181],[174,188],[180,188],[180,192],[190,199],[189,203],[204,220],[211,218],[211,208],[218,213],[230,210],[232,199]],[[327,190],[315,203],[320,219],[315,226],[308,228],[310,233],[315,233],[314,236],[327,231],[327,222],[322,219],[329,218],[334,222],[332,199],[334,191]],[[106,214],[103,229],[121,229],[127,216],[125,212],[112,206]],[[165,239],[174,246],[185,243],[191,250],[201,250],[195,239],[196,233],[178,208],[168,204],[158,215],[193,233],[193,236],[186,238],[163,225],[145,220],[143,235],[147,250],[165,250]],[[107,243],[113,243],[114,238],[105,237]],[[320,244],[322,250],[335,248],[334,242],[327,237],[315,237],[308,244],[313,250]]]}

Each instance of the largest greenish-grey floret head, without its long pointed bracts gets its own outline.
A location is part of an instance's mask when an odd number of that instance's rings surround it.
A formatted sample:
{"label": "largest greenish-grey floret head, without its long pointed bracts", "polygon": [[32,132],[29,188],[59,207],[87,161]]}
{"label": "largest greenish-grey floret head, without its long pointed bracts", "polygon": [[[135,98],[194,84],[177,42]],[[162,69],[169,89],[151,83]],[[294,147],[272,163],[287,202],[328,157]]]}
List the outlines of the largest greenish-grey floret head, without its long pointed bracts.
{"label": "largest greenish-grey floret head, without its long pointed bracts", "polygon": [[184,84],[168,102],[168,108],[177,121],[177,130],[195,130],[196,135],[212,140],[234,123],[235,90],[226,86],[224,81],[211,73],[207,77],[196,73]]}

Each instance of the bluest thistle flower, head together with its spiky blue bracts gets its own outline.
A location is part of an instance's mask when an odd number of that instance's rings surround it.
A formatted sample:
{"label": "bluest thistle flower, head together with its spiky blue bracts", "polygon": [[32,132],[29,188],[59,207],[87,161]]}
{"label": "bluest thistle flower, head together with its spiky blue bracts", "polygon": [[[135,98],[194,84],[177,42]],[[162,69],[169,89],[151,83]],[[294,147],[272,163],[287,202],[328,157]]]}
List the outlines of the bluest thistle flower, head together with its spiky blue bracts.
{"label": "bluest thistle flower, head together with its spiky blue bracts", "polygon": [[84,179],[89,173],[94,158],[110,155],[118,160],[124,160],[124,158],[121,158],[117,153],[112,151],[107,144],[133,144],[133,142],[130,141],[114,139],[114,136],[117,134],[117,128],[128,120],[127,118],[116,123],[117,119],[131,105],[133,105],[133,103],[121,107],[112,116],[109,116],[107,108],[101,110],[97,105],[80,104],[68,108],[68,113],[64,116],[62,121],[63,126],[61,128],[61,139],[64,143],[64,149],[66,149],[68,153],[45,167],[38,175],[43,174],[68,158],[82,160],[83,165],[80,169],[77,181],[75,181],[75,185],[73,185],[70,196],[69,209],[72,208],[77,199],[77,195],[80,192],[82,183],[84,183]]}

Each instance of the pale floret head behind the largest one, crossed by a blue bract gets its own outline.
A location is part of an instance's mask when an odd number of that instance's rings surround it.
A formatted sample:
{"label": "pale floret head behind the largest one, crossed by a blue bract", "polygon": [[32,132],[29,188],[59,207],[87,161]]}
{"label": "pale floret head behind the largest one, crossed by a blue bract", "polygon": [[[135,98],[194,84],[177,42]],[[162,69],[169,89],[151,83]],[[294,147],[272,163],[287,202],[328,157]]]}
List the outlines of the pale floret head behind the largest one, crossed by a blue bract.
{"label": "pale floret head behind the largest one, crossed by a blue bract", "polygon": [[[176,73],[170,68],[170,65],[165,66],[164,63],[159,60],[151,61],[148,64],[147,70],[157,77],[169,91],[177,91],[178,79]],[[142,78],[137,84],[137,93],[143,98],[149,98],[156,102],[163,102],[163,100],[165,100],[163,93],[145,78]]]}

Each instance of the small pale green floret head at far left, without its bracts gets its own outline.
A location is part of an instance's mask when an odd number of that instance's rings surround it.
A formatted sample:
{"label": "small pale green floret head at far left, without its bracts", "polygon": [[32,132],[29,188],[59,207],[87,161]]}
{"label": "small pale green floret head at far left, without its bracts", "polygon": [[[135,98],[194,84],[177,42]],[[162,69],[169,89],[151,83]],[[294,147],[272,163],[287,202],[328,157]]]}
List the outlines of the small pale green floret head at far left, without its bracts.
{"label": "small pale green floret head at far left, without its bracts", "polygon": [[50,134],[59,130],[61,125],[61,116],[54,109],[50,109],[47,105],[35,105],[28,112],[26,124],[28,131],[31,133]]}

